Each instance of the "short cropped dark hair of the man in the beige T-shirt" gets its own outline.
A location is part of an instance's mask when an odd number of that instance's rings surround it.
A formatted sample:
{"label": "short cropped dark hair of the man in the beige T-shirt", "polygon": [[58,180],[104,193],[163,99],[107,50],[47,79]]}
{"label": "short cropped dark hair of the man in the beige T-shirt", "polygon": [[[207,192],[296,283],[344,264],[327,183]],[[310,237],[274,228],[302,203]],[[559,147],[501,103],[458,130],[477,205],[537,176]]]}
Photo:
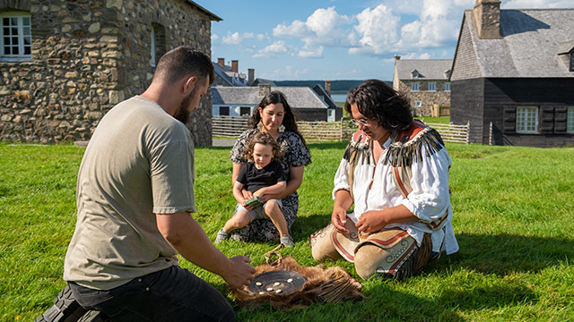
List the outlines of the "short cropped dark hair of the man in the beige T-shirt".
{"label": "short cropped dark hair of the man in the beige T-shirt", "polygon": [[209,77],[209,83],[213,84],[213,64],[208,55],[192,47],[181,46],[161,56],[155,67],[153,80],[173,84],[191,76],[196,76],[198,80]]}

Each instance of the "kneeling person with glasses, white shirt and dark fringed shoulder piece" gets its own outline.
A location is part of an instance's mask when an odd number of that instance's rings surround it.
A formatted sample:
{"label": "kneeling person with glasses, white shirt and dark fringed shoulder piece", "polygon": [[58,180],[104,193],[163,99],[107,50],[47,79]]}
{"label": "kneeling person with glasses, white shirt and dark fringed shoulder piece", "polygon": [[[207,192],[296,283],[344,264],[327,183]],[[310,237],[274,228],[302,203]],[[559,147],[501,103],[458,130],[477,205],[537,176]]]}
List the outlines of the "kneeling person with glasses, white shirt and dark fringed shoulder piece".
{"label": "kneeling person with glasses, white shirt and dark fringed shoulder piece", "polygon": [[352,89],[344,107],[359,131],[335,174],[331,224],[311,236],[313,258],[343,257],[365,279],[401,279],[456,252],[439,132],[413,120],[408,99],[380,80]]}

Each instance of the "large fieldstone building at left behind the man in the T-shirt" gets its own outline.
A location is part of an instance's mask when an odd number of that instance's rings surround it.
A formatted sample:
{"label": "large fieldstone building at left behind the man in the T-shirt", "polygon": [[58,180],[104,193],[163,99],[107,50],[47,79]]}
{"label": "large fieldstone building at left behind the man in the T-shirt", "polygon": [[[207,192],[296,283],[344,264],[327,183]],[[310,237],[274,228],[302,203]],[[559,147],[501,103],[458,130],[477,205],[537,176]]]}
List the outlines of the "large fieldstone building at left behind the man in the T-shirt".
{"label": "large fieldstone building at left behind the man in the T-shirt", "polygon": [[[211,21],[188,0],[0,1],[0,140],[89,140],[100,118],[151,83],[181,45],[211,55]],[[211,145],[211,96],[189,128]]]}

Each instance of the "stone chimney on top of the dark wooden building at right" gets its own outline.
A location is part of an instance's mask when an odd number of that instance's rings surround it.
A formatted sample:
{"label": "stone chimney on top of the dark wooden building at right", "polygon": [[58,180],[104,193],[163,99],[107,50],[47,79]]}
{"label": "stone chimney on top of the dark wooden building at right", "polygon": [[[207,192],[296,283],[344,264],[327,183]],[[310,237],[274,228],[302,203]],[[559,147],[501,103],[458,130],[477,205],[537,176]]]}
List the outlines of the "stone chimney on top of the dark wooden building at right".
{"label": "stone chimney on top of the dark wooden building at right", "polygon": [[476,0],[473,10],[478,38],[501,39],[500,0]]}

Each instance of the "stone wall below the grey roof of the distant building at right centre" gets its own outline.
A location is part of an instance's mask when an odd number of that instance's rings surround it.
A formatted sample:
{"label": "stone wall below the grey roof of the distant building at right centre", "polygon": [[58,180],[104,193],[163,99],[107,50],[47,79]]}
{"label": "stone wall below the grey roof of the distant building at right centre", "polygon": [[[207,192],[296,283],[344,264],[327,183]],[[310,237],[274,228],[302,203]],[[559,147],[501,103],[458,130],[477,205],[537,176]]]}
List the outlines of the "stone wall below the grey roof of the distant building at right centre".
{"label": "stone wall below the grey roof of the distant building at right centre", "polygon": [[[435,81],[437,83],[437,91],[428,91],[428,83]],[[411,83],[419,83],[419,91],[411,91]],[[415,116],[431,116],[432,105],[438,104],[439,106],[450,106],[450,92],[445,91],[446,80],[401,80],[399,81],[399,91],[408,93],[411,106],[413,106],[413,114]],[[414,102],[420,100],[421,107],[414,107]]]}

